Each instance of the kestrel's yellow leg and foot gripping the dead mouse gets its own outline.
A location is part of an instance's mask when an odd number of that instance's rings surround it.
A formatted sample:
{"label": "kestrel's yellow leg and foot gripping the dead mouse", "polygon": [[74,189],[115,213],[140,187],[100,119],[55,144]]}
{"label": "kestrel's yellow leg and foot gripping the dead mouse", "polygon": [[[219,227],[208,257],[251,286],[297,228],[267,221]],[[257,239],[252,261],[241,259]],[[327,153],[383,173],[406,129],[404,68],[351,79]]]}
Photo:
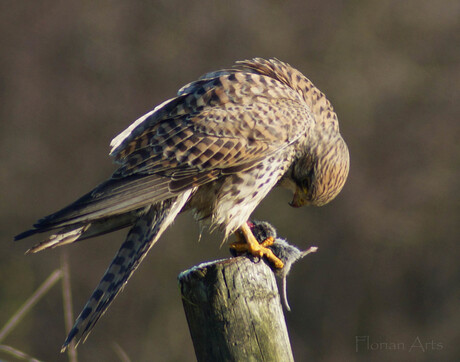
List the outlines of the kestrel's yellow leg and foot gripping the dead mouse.
{"label": "kestrel's yellow leg and foot gripping the dead mouse", "polygon": [[265,256],[271,263],[273,263],[275,268],[283,268],[283,262],[276,257],[275,254],[273,254],[273,251],[268,249],[268,246],[272,245],[274,242],[273,237],[270,236],[259,244],[247,223],[244,223],[235,234],[238,241],[230,244],[232,249],[237,252],[247,251],[251,255],[259,258]]}

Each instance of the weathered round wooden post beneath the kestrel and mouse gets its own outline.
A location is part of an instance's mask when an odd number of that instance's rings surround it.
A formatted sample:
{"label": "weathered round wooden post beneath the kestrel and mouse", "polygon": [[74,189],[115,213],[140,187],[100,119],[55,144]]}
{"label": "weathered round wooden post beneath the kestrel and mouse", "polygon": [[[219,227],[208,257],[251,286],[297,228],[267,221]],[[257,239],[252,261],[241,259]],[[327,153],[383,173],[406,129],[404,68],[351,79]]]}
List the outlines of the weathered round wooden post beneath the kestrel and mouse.
{"label": "weathered round wooden post beneath the kestrel and mouse", "polygon": [[179,275],[197,360],[293,361],[273,271],[246,257]]}

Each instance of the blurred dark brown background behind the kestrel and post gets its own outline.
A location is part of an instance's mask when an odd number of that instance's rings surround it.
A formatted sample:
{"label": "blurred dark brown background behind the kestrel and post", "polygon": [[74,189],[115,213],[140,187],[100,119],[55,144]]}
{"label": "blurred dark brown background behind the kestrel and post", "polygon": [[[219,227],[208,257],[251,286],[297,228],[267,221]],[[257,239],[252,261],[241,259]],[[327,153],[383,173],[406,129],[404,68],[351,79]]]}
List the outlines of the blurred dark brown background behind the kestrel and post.
{"label": "blurred dark brown background behind the kestrel and post", "polygon": [[[318,253],[295,265],[286,313],[298,361],[460,360],[456,0],[0,3],[0,326],[60,267],[13,236],[106,179],[110,140],[203,73],[277,57],[337,111],[351,153],[339,197],[255,218]],[[177,274],[228,255],[181,215],[78,348],[81,361],[193,361]],[[66,247],[76,315],[123,241]],[[65,361],[53,287],[3,344]],[[0,354],[0,359],[12,359]]]}

